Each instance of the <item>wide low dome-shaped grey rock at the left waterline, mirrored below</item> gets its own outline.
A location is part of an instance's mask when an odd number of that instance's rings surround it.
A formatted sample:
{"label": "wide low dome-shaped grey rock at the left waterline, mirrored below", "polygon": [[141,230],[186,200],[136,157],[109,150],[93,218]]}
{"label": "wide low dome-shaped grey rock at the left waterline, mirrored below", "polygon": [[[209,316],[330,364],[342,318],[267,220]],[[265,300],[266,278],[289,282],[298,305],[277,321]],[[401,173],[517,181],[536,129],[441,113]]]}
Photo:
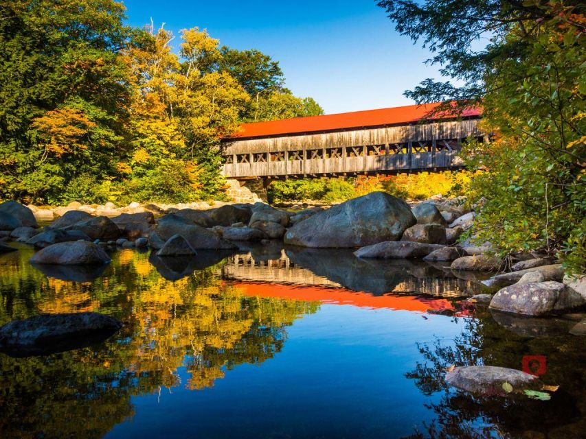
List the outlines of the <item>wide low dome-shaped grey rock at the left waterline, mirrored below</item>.
{"label": "wide low dome-shaped grey rock at the left waterline, mirrored below", "polygon": [[52,244],[36,252],[30,259],[31,263],[63,265],[100,265],[110,261],[100,246],[87,241]]}

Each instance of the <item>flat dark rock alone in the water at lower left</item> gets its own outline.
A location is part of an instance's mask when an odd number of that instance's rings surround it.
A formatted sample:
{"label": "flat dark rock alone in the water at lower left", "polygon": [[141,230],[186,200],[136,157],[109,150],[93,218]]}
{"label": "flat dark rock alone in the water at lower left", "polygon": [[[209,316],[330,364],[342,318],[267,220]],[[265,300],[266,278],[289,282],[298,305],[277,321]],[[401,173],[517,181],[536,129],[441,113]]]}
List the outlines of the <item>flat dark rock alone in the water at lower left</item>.
{"label": "flat dark rock alone in the water at lower left", "polygon": [[122,322],[100,313],[42,314],[0,328],[0,352],[12,357],[49,355],[102,342]]}

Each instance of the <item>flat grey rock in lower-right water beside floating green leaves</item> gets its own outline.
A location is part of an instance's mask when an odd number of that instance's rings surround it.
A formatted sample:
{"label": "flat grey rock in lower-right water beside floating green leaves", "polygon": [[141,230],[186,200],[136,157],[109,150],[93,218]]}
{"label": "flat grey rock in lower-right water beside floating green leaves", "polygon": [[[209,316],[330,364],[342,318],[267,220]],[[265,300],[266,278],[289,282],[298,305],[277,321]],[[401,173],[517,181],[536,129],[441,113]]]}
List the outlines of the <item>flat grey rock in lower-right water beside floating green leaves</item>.
{"label": "flat grey rock in lower-right water beside floating green leaves", "polygon": [[[447,372],[446,382],[460,390],[482,396],[508,396],[511,393],[523,394],[523,390],[543,389],[543,383],[534,375],[497,366],[454,368]],[[512,392],[504,390],[504,383],[512,386]]]}

